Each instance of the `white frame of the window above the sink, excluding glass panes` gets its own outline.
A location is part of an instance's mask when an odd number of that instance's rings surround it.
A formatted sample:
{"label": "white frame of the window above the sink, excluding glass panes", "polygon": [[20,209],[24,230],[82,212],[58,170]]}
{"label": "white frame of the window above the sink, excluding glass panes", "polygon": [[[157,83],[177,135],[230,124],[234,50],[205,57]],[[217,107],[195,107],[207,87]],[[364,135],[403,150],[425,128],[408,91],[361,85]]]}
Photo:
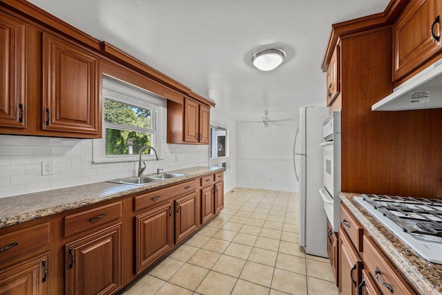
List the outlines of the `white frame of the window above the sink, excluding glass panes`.
{"label": "white frame of the window above the sink, excluding glass panes", "polygon": [[[122,102],[130,104],[131,106],[138,106],[140,108],[151,109],[151,129],[152,133],[151,146],[160,153],[162,147],[162,126],[164,117],[164,99],[146,91],[143,88],[128,84],[122,80],[114,77],[103,75],[103,95],[102,95],[102,110],[104,114],[104,100],[111,99],[115,102]],[[104,117],[104,115],[103,115]],[[102,138],[93,140],[93,162],[131,162],[139,160],[139,155],[106,155],[106,127],[118,128],[118,124],[105,122],[102,124]],[[127,127],[127,126],[122,126]],[[134,131],[146,131],[146,129],[137,130],[137,127],[131,128]],[[155,160],[155,155],[143,154],[143,160]]]}

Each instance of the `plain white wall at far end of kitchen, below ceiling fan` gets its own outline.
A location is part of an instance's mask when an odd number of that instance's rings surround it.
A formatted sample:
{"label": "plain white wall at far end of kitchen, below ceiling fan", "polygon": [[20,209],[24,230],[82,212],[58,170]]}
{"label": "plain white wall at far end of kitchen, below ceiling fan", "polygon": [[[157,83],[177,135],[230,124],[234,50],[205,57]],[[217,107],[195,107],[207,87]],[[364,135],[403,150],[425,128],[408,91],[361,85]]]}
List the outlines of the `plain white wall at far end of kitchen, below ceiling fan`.
{"label": "plain white wall at far end of kitchen, below ceiling fan", "polygon": [[238,122],[236,125],[238,187],[298,191],[293,164],[295,122],[285,122],[281,126],[270,127]]}

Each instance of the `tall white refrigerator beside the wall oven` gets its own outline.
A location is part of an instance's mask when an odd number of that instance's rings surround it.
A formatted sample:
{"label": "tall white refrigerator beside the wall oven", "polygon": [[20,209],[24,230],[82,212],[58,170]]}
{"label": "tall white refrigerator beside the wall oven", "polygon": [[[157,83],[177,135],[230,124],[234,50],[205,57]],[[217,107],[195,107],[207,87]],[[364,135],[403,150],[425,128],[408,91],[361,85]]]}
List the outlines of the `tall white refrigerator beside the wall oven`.
{"label": "tall white refrigerator beside the wall oven", "polygon": [[305,253],[328,257],[327,216],[319,189],[323,183],[323,124],[326,107],[302,107],[294,142],[294,167],[299,183],[298,242]]}

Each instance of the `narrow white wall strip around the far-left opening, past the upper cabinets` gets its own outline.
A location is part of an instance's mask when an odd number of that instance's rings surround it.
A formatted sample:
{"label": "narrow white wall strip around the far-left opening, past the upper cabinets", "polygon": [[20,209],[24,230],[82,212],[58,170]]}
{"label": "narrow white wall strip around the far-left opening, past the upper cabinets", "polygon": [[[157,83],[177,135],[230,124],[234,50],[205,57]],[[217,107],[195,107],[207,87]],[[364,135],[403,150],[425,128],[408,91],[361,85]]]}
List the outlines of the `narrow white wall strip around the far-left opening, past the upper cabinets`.
{"label": "narrow white wall strip around the far-left opening, past the upper cabinets", "polygon": [[224,173],[224,191],[227,192],[236,187],[236,122],[215,106],[211,109],[211,124],[229,129],[229,171]]}

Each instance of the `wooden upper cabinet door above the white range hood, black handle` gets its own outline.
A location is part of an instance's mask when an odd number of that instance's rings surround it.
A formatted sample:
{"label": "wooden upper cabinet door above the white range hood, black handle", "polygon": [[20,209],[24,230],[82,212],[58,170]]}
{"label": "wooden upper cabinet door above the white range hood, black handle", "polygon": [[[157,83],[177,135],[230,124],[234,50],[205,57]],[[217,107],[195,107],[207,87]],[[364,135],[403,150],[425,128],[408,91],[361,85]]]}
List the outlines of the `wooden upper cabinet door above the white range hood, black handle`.
{"label": "wooden upper cabinet door above the white range hood, black handle", "polygon": [[441,50],[442,4],[410,1],[393,26],[393,81],[404,77]]}

